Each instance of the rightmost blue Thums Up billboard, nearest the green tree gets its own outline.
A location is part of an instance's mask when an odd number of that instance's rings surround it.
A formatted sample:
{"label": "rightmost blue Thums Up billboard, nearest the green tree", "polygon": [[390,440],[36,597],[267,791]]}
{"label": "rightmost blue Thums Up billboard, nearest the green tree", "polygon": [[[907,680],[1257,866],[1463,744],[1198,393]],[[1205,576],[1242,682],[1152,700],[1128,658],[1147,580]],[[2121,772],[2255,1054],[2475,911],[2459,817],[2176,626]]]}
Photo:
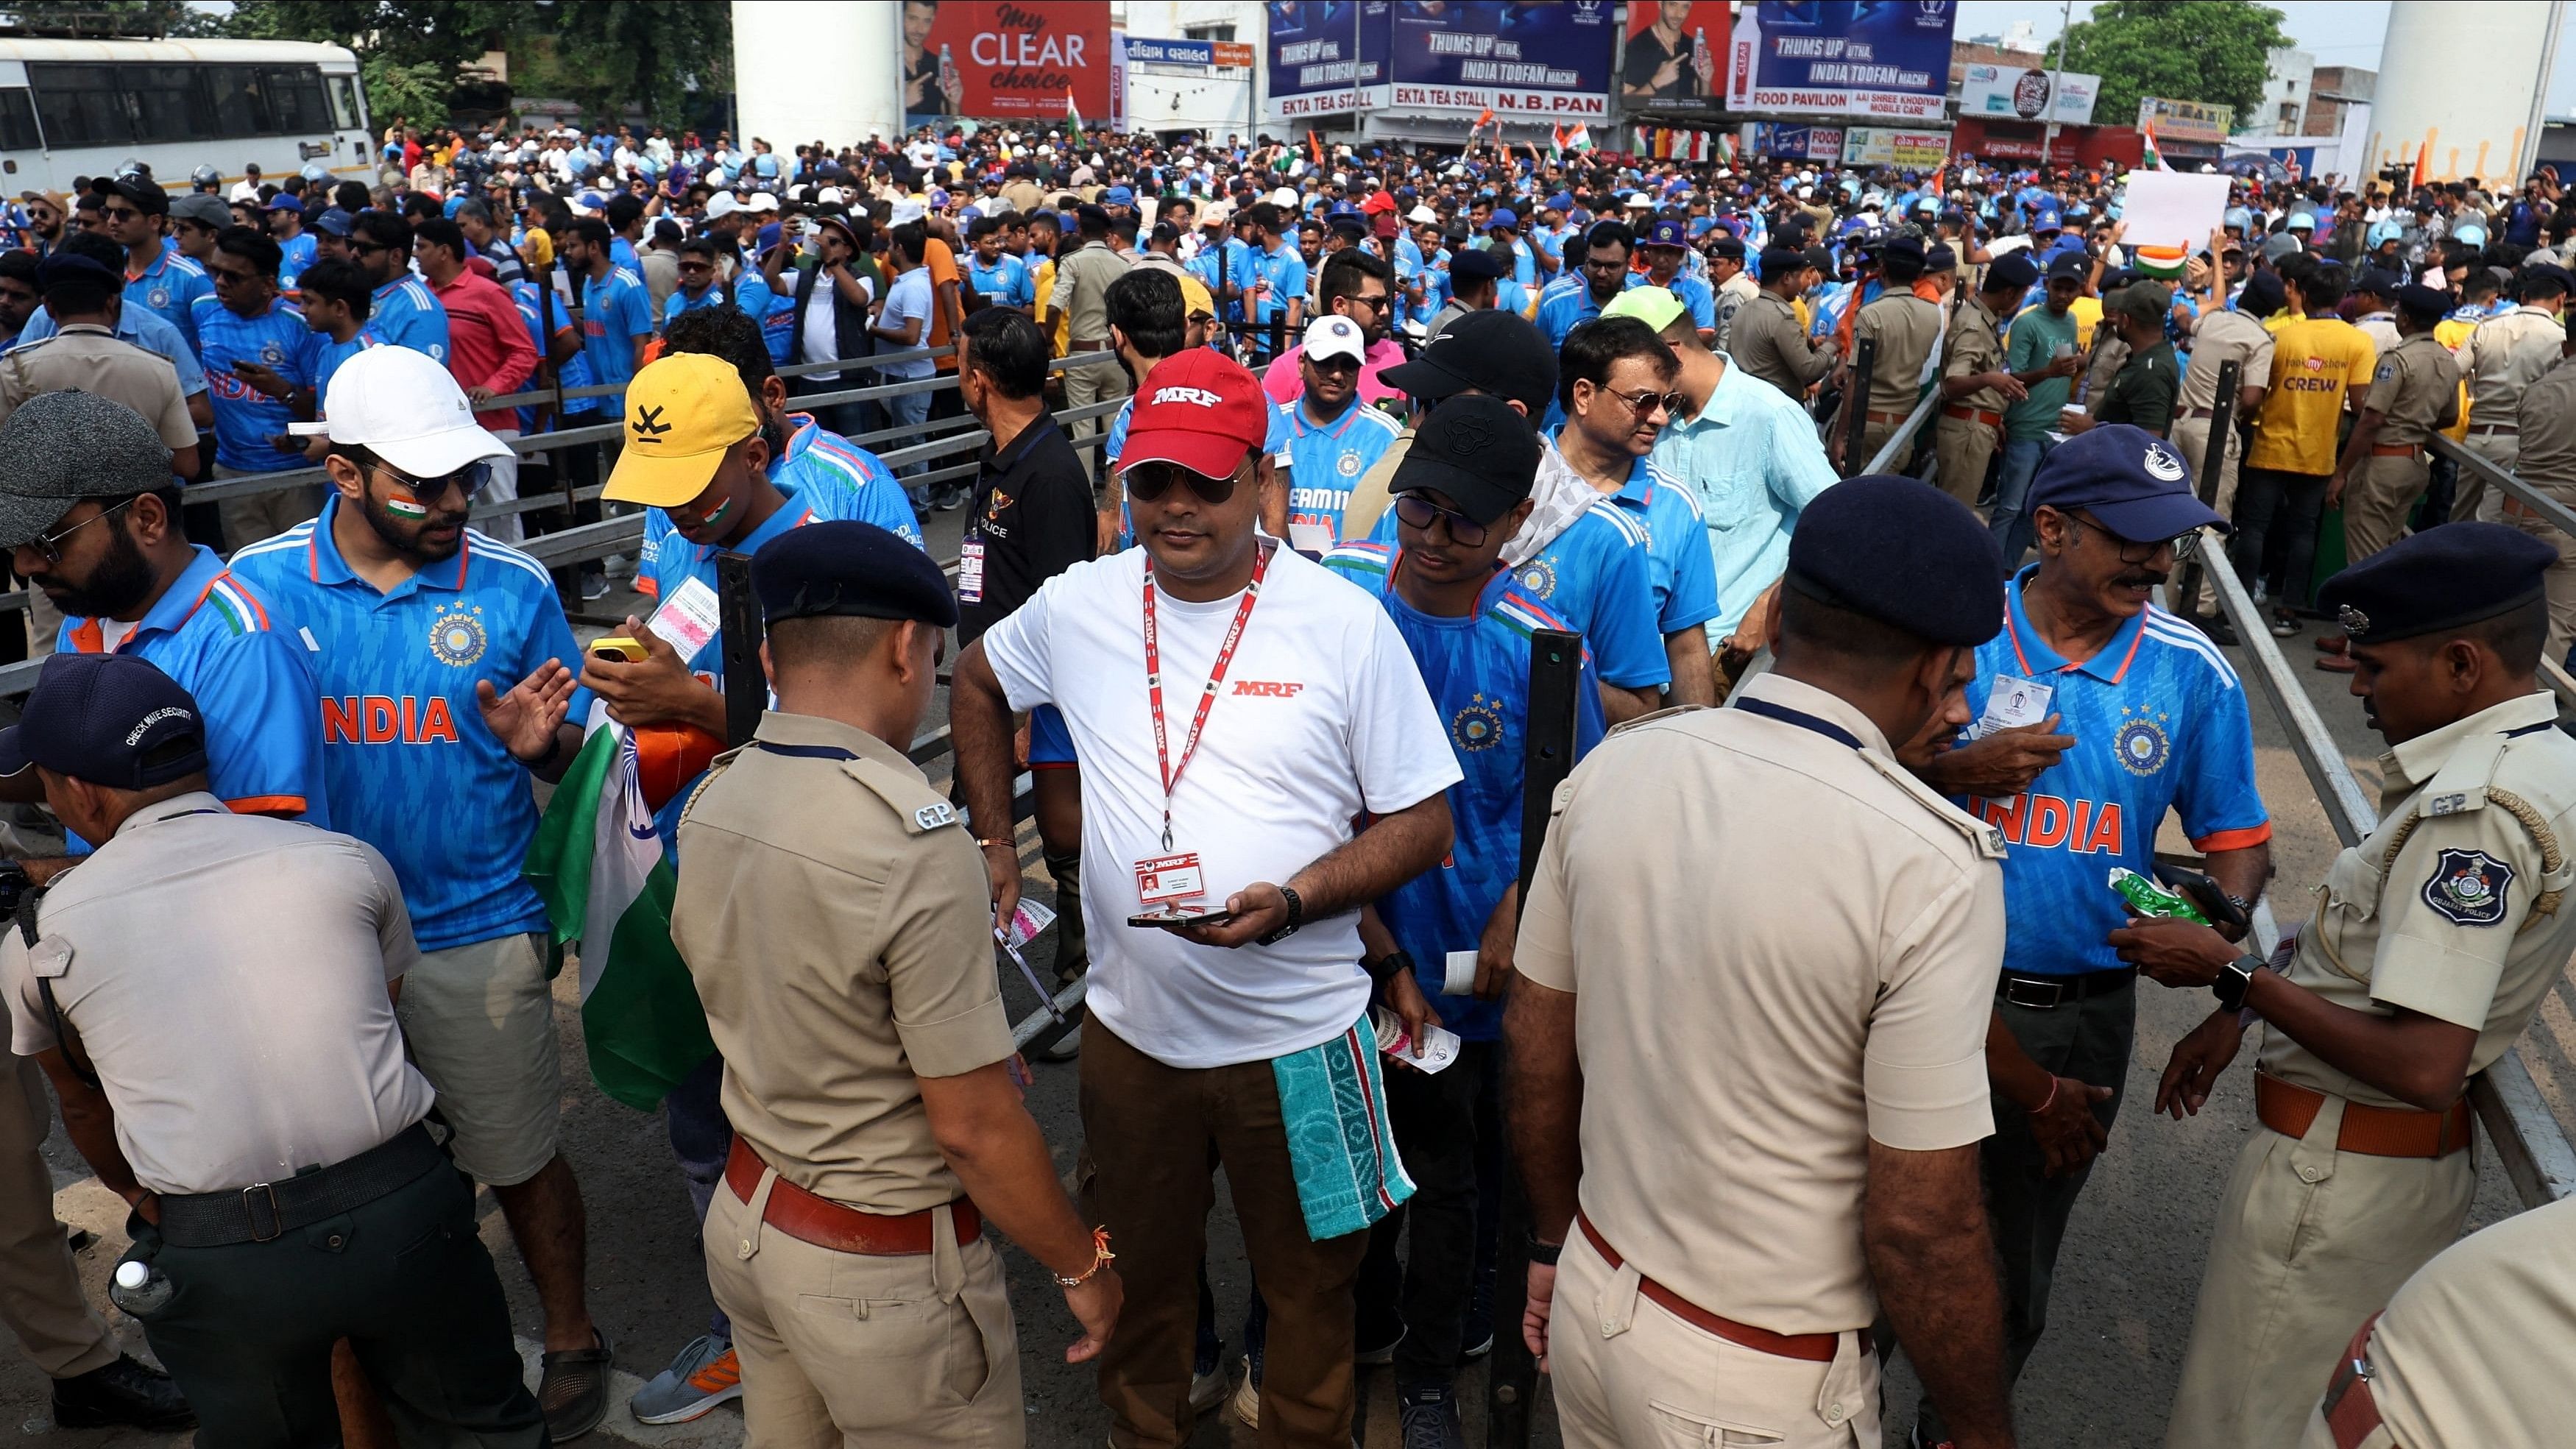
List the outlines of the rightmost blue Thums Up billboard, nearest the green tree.
{"label": "rightmost blue Thums Up billboard, nearest the green tree", "polygon": [[1955,23],[1955,0],[1762,0],[1726,44],[1726,106],[1942,121]]}

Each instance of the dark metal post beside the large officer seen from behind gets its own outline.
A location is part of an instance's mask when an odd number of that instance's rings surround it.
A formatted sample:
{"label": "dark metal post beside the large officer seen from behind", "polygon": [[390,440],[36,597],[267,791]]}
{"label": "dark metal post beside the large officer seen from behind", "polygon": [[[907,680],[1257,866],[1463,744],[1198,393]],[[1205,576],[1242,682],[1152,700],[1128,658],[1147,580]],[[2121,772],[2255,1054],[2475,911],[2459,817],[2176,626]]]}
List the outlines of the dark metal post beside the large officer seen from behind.
{"label": "dark metal post beside the large officer seen from behind", "polygon": [[[1574,772],[1574,705],[1582,690],[1582,636],[1543,628],[1530,636],[1530,734],[1520,749],[1520,898],[1530,898],[1538,849],[1548,844],[1556,788]],[[1502,1063],[1497,1060],[1497,1068]],[[1502,1153],[1510,1161],[1510,1150]],[[1528,1449],[1538,1403],[1538,1359],[1520,1338],[1530,1297],[1530,1199],[1520,1168],[1502,1176],[1502,1223],[1494,1225],[1494,1359],[1484,1387],[1486,1449]]]}

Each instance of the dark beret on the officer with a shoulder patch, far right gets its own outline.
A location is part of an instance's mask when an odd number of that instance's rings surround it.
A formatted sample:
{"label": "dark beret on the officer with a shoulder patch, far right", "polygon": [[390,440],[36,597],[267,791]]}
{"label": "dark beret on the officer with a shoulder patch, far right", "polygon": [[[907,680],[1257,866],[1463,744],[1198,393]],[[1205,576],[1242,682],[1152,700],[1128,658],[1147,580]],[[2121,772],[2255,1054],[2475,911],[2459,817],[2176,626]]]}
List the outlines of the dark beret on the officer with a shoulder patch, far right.
{"label": "dark beret on the officer with a shoulder patch, far right", "polygon": [[2504,522],[2445,522],[2391,543],[2316,589],[2354,643],[2416,638],[2543,597],[2558,548]]}

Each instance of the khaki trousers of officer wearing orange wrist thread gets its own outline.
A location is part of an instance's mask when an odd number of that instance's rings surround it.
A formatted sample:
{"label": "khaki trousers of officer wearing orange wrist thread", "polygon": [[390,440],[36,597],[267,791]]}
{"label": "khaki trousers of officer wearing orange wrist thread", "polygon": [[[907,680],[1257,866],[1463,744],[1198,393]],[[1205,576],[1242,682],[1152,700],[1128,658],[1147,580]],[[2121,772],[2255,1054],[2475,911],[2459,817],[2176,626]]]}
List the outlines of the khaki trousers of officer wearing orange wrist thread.
{"label": "khaki trousers of officer wearing orange wrist thread", "polygon": [[956,1241],[938,1210],[930,1253],[881,1259],[788,1238],[716,1189],[706,1284],[734,1320],[747,1449],[1015,1449],[1020,1336],[992,1235]]}

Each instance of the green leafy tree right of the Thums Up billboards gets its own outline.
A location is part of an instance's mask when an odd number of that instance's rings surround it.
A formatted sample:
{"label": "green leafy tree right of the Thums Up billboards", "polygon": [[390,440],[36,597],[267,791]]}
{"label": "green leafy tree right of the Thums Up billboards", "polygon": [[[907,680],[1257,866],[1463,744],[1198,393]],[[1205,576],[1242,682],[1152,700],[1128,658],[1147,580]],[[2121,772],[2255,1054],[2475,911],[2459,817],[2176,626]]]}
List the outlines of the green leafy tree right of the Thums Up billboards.
{"label": "green leafy tree right of the Thums Up billboards", "polygon": [[2251,0],[2105,0],[2069,26],[2063,64],[2102,77],[2105,126],[2133,124],[2143,95],[2233,106],[2244,124],[2262,106],[2269,51],[2290,44],[2285,18]]}

